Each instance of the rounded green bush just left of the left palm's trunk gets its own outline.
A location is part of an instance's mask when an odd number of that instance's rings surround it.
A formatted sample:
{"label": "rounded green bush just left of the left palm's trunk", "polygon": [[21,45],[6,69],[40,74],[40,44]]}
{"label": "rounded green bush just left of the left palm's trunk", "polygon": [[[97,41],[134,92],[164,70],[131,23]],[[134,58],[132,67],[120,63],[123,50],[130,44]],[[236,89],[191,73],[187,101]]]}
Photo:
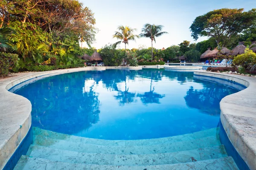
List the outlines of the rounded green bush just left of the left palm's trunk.
{"label": "rounded green bush just left of the left palm's trunk", "polygon": [[105,45],[99,51],[101,54],[104,65],[106,66],[119,66],[123,60],[123,54],[121,50],[117,50],[115,45]]}

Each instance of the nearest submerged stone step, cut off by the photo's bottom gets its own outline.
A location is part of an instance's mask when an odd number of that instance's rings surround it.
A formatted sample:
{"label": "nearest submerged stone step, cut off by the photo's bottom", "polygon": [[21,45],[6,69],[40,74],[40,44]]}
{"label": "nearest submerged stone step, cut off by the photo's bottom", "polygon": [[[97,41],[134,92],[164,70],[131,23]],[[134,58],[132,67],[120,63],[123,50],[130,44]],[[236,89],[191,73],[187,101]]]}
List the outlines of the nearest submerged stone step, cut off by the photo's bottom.
{"label": "nearest submerged stone step, cut off by the photo's bottom", "polygon": [[49,159],[22,156],[14,170],[239,170],[232,157],[208,159],[179,164],[113,166],[99,164],[74,164]]}

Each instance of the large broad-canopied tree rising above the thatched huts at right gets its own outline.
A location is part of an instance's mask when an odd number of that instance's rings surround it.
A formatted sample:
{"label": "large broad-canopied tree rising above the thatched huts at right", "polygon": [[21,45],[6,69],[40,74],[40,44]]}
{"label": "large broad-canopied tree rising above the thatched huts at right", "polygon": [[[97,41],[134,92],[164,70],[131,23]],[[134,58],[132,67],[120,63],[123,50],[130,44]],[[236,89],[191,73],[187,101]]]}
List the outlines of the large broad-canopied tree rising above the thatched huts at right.
{"label": "large broad-canopied tree rising above the thatched huts at right", "polygon": [[256,9],[243,12],[244,9],[222,8],[209,11],[207,14],[196,17],[190,26],[192,37],[213,37],[218,45],[224,47],[230,43],[230,37],[241,33],[256,21]]}

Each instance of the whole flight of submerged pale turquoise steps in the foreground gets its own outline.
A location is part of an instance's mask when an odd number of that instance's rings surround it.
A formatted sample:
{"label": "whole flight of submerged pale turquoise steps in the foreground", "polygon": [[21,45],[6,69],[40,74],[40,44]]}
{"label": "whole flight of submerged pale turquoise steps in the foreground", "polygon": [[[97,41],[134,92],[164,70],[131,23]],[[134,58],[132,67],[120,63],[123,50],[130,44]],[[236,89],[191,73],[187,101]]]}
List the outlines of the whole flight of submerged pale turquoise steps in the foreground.
{"label": "whole flight of submerged pale turquoise steps in the foreground", "polygon": [[218,128],[159,139],[102,140],[33,128],[15,170],[238,170]]}

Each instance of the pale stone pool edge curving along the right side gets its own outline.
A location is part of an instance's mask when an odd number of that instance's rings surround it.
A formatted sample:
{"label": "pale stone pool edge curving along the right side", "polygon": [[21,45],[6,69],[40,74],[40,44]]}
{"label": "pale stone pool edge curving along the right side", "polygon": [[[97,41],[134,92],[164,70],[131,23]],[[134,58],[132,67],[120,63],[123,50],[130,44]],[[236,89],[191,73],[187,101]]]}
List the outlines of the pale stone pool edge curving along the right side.
{"label": "pale stone pool edge curving along the right side", "polygon": [[256,78],[194,71],[194,75],[226,79],[246,86],[220,102],[221,123],[230,142],[251,170],[256,169]]}

